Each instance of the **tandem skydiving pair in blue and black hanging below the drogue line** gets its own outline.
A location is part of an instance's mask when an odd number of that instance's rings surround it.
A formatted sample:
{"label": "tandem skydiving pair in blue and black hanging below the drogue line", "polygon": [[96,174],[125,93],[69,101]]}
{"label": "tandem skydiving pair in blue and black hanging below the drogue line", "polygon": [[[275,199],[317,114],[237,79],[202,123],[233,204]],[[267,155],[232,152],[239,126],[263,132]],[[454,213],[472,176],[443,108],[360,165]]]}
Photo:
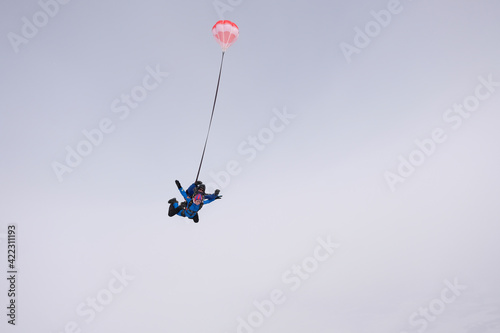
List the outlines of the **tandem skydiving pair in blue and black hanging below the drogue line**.
{"label": "tandem skydiving pair in blue and black hanging below the drogue line", "polygon": [[175,181],[175,184],[177,185],[179,192],[181,192],[186,201],[179,205],[176,198],[170,199],[168,201],[168,203],[170,204],[170,207],[168,209],[168,216],[170,217],[179,215],[182,217],[190,218],[195,223],[198,223],[198,221],[200,220],[198,211],[203,207],[203,205],[211,203],[212,201],[220,199],[222,197],[219,195],[220,191],[218,190],[214,194],[205,196],[205,186],[203,185],[203,187],[201,187],[201,182],[199,184],[195,183],[188,188],[188,192],[189,194],[191,194],[191,196],[188,195],[186,191],[184,191],[178,180]]}

